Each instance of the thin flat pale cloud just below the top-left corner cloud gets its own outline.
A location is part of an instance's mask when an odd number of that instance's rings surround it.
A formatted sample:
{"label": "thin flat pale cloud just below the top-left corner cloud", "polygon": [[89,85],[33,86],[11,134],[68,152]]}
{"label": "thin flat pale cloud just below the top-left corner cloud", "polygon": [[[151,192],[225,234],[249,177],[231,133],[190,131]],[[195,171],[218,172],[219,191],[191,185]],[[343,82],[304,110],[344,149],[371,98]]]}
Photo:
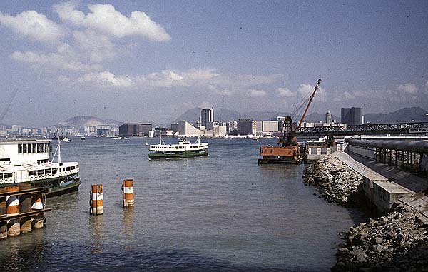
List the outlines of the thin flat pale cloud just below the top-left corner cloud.
{"label": "thin flat pale cloud just below the top-left corner cloud", "polygon": [[15,51],[11,54],[11,59],[30,64],[34,69],[61,69],[66,71],[94,71],[102,69],[102,66],[98,64],[83,64],[80,61],[73,61],[56,53],[37,54],[32,51]]}

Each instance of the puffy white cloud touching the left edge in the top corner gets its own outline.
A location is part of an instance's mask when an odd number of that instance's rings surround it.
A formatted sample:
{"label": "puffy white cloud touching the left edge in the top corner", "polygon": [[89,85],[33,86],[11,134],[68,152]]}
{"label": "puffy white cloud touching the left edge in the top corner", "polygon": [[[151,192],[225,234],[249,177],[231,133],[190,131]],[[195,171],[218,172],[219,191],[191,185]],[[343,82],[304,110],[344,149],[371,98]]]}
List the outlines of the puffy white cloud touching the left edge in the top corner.
{"label": "puffy white cloud touching the left edge in the top corner", "polygon": [[55,43],[66,35],[65,29],[37,11],[23,11],[16,16],[0,12],[0,24],[36,41]]}

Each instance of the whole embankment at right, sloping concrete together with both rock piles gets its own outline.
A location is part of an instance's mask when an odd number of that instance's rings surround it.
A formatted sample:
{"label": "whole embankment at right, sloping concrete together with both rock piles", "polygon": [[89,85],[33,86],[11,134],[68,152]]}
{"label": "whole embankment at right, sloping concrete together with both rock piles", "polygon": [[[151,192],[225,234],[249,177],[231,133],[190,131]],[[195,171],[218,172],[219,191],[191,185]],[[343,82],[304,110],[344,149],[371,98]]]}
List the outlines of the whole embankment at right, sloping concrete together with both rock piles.
{"label": "whole embankment at right, sloping concrete together with both rock piles", "polygon": [[345,233],[332,271],[428,271],[427,179],[344,152],[321,158],[306,175],[327,201],[354,201],[382,216]]}

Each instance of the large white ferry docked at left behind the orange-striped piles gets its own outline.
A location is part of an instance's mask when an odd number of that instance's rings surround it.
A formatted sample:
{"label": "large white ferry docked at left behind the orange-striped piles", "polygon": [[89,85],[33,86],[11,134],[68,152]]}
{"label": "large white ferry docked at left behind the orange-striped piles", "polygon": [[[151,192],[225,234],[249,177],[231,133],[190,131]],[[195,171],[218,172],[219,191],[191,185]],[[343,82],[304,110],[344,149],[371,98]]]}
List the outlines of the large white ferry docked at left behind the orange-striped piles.
{"label": "large white ferry docked at left behind the orange-striped piles", "polygon": [[46,188],[47,196],[77,191],[78,163],[61,161],[60,141],[52,159],[50,152],[49,139],[0,139],[0,187],[30,183]]}

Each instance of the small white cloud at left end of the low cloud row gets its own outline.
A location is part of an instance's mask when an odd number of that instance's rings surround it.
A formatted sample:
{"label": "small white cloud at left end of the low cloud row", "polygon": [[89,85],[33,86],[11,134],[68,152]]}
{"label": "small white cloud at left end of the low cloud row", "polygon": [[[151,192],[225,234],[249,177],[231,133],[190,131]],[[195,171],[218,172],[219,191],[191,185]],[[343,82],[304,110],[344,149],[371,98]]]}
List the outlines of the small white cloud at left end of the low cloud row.
{"label": "small white cloud at left end of the low cloud row", "polygon": [[81,84],[89,84],[92,86],[100,86],[104,88],[128,88],[134,85],[133,81],[129,79],[128,76],[116,76],[109,71],[84,74],[83,76],[79,77],[77,81]]}

